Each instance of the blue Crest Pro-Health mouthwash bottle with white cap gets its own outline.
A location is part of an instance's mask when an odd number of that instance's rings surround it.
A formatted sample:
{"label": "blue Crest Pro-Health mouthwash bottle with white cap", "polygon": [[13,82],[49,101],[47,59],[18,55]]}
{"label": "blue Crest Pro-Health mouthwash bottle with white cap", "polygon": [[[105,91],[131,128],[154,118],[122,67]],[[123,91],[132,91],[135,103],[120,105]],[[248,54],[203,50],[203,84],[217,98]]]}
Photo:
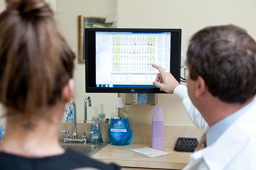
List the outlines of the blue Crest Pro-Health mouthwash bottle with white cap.
{"label": "blue Crest Pro-Health mouthwash bottle with white cap", "polygon": [[116,108],[111,114],[108,129],[109,141],[112,145],[128,145],[131,143],[132,131],[129,126],[127,111],[122,97],[116,99]]}

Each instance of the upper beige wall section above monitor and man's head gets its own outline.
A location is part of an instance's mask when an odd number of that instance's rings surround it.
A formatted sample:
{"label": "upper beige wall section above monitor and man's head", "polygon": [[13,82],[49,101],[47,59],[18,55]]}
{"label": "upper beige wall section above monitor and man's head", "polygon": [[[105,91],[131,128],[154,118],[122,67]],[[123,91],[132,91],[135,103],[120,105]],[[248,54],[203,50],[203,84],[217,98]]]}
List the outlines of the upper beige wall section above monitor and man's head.
{"label": "upper beige wall section above monitor and man's head", "polygon": [[255,0],[117,0],[119,28],[181,28],[182,51],[201,28],[236,24],[256,39]]}

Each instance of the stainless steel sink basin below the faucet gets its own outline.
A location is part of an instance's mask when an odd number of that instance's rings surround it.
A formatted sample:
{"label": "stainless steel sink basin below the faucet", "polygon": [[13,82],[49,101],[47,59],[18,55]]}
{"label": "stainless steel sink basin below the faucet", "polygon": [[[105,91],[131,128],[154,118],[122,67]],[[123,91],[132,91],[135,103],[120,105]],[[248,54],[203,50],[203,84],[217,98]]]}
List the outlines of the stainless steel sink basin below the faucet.
{"label": "stainless steel sink basin below the faucet", "polygon": [[61,147],[64,148],[64,150],[71,149],[77,153],[81,153],[86,156],[93,156],[95,153],[97,153],[99,150],[101,150],[103,147],[105,147],[109,142],[103,142],[99,144],[92,144],[92,143],[63,143],[60,141]]}

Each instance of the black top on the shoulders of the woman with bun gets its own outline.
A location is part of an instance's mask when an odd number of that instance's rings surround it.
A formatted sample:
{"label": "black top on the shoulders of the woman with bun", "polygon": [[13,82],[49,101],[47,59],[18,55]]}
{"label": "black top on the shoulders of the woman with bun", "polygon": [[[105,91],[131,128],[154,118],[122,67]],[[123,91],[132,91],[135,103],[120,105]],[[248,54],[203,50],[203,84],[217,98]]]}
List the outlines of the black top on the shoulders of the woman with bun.
{"label": "black top on the shoulders of the woman with bun", "polygon": [[64,154],[44,158],[27,158],[0,152],[0,169],[120,170],[120,167],[116,164],[104,164],[72,150],[67,150]]}

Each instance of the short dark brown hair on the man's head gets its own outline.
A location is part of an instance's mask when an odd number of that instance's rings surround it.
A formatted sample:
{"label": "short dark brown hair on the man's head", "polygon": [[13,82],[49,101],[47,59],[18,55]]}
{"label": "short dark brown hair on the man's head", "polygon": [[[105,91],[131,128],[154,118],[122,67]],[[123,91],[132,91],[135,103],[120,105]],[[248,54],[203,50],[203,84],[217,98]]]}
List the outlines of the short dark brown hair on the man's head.
{"label": "short dark brown hair on the man's head", "polygon": [[244,103],[256,94],[256,42],[233,25],[195,33],[187,51],[191,79],[203,77],[209,92],[228,103]]}

